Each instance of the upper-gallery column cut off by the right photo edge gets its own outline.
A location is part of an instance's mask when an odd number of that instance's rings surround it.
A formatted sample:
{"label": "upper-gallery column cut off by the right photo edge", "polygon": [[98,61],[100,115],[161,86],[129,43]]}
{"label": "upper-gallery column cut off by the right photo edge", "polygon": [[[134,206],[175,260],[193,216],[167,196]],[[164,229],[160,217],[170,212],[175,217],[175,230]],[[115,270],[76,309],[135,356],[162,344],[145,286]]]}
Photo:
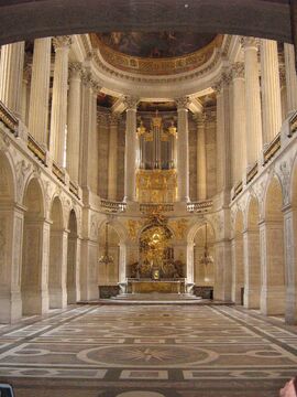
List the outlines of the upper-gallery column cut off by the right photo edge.
{"label": "upper-gallery column cut off by the right photo edge", "polygon": [[285,67],[286,67],[286,86],[287,86],[287,110],[288,114],[297,110],[297,77],[295,68],[294,45],[285,43]]}

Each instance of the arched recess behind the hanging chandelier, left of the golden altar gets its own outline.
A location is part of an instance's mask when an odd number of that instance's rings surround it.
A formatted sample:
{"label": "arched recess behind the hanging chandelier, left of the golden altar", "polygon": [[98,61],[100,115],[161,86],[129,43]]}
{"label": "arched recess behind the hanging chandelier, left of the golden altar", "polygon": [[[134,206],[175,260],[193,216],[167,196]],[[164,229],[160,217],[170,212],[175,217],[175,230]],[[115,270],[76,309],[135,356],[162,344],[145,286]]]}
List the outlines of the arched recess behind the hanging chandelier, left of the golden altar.
{"label": "arched recess behind the hanging chandelier, left of the golden altar", "polygon": [[[106,247],[106,225],[107,222],[101,223],[101,227],[98,232],[98,258],[105,254]],[[117,225],[117,224],[116,224]],[[120,259],[121,259],[121,236],[119,235],[117,226],[114,223],[110,224],[108,222],[108,254],[112,256],[112,265],[102,265],[98,266],[98,283],[99,286],[117,285],[120,279]]]}

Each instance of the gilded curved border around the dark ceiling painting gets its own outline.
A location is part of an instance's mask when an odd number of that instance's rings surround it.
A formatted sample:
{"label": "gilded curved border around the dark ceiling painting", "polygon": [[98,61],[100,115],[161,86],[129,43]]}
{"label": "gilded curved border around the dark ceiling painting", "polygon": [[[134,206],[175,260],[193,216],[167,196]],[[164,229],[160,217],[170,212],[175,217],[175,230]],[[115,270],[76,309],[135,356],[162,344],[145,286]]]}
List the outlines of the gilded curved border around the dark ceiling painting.
{"label": "gilded curved border around the dark ceiling painting", "polygon": [[147,58],[123,54],[106,45],[96,33],[90,34],[92,47],[99,49],[103,60],[110,65],[136,74],[143,75],[167,75],[190,72],[210,60],[216,49],[222,46],[223,35],[218,34],[216,39],[191,54],[172,58]]}

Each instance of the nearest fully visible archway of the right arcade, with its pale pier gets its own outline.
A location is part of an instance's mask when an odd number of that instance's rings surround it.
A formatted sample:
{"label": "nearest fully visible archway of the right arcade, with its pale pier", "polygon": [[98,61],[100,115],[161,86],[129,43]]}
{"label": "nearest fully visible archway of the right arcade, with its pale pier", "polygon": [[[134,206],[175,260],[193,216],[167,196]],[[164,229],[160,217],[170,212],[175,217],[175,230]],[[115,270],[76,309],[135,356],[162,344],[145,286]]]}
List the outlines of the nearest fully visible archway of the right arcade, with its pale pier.
{"label": "nearest fully visible archway of the right arcade, with its pale pier", "polygon": [[262,291],[261,311],[284,314],[285,261],[283,191],[278,178],[270,180],[264,202],[264,219],[260,225]]}

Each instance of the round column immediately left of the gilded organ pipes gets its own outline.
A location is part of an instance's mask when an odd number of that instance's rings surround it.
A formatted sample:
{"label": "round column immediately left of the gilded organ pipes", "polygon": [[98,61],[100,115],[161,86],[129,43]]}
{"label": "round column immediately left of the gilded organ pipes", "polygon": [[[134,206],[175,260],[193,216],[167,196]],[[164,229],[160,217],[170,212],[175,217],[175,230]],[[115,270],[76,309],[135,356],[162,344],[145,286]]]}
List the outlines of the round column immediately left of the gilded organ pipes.
{"label": "round column immediately left of the gilded organ pipes", "polygon": [[136,198],[136,105],[139,99],[125,97],[125,157],[124,157],[124,201],[133,202]]}

